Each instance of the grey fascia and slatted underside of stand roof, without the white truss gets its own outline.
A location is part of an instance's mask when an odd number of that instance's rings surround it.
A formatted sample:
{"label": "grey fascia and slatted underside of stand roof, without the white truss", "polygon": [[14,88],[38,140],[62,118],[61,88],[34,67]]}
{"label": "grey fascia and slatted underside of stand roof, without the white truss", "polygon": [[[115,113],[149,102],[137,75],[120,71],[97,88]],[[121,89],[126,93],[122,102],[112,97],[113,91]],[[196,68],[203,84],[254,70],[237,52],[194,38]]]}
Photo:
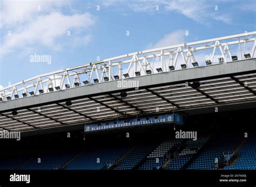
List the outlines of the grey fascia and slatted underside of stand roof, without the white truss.
{"label": "grey fascia and slatted underside of stand roof, without the white truss", "polygon": [[[116,119],[117,113],[119,118],[157,115],[157,107],[160,113],[172,109],[185,113],[202,109],[214,112],[216,106],[239,103],[256,107],[256,59],[128,80],[139,81],[139,89],[118,88],[117,81],[112,81],[2,102],[0,129],[33,131],[85,124],[85,120],[97,123]],[[193,82],[200,82],[200,86],[193,88]],[[127,96],[121,97],[120,92],[127,92]],[[72,105],[67,106],[66,101]]]}

